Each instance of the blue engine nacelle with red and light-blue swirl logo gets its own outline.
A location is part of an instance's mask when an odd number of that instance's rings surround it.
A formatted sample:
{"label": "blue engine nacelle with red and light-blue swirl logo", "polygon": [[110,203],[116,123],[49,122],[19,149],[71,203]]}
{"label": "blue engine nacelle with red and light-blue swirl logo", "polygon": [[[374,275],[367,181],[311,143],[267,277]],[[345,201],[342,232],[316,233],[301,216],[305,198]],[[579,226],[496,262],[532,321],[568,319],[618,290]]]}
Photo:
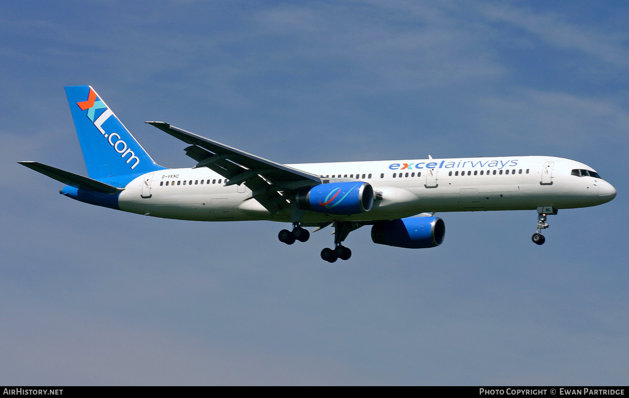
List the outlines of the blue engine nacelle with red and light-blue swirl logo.
{"label": "blue engine nacelle with red and light-blue swirl logo", "polygon": [[333,182],[303,189],[295,199],[299,209],[349,216],[371,210],[374,189],[368,182]]}

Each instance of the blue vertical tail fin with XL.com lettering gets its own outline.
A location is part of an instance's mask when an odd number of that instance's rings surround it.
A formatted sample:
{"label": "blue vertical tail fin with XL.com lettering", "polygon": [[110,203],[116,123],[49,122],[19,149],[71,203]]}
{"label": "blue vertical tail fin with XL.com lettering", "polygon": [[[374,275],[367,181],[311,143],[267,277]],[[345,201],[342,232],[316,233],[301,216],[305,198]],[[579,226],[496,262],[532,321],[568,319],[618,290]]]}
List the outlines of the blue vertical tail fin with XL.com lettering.
{"label": "blue vertical tail fin with XL.com lettering", "polygon": [[91,86],[65,87],[81,151],[92,179],[163,170]]}

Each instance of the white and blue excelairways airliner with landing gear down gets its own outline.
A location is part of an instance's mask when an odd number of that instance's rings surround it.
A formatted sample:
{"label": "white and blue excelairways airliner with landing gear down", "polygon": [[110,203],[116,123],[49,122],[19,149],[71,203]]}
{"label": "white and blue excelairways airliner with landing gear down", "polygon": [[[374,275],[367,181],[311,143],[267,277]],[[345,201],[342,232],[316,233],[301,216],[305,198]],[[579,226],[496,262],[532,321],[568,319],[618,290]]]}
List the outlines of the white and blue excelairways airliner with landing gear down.
{"label": "white and blue excelairways airliner with landing gear down", "polygon": [[547,216],[597,206],[616,189],[592,167],[550,156],[379,160],[281,164],[163,121],[147,121],[186,143],[192,168],[155,163],[91,86],[65,87],[89,177],[38,162],[18,162],[66,186],[77,201],[145,216],[195,221],[292,223],[278,238],[305,242],[332,225],[333,263],[352,255],[348,234],[371,226],[372,241],[431,248],[445,236],[450,211],[537,210],[532,241],[545,242]]}

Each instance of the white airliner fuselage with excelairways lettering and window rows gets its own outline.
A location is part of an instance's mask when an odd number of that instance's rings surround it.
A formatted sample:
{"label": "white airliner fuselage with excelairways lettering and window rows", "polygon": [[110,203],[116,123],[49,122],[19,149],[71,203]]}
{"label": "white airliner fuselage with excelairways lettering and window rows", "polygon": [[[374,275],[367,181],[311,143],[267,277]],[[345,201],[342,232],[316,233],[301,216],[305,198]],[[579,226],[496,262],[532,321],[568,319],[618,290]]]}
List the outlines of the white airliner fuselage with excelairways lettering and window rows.
{"label": "white airliner fuselage with excelairways lettering and window rows", "polygon": [[[304,223],[398,219],[424,212],[555,209],[596,206],[615,196],[603,179],[572,175],[584,163],[546,156],[382,160],[288,165],[324,180],[369,182],[377,200],[352,216],[307,212]],[[291,221],[290,209],[270,214],[245,185],[225,185],[206,167],[137,177],[121,192],[123,211],[197,221]]]}

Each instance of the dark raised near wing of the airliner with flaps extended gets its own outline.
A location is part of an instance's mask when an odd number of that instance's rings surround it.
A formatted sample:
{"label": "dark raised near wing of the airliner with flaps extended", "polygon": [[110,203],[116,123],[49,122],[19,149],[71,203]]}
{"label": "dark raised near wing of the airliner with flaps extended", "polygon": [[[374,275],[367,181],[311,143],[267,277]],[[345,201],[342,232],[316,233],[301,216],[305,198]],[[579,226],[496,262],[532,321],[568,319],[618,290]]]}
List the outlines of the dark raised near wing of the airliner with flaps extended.
{"label": "dark raised near wing of the airliner with flaps extended", "polygon": [[186,155],[196,160],[196,167],[208,167],[228,179],[227,185],[245,184],[252,197],[272,214],[289,207],[286,191],[321,184],[319,175],[293,169],[281,163],[243,152],[209,140],[163,121],[147,121],[166,133],[191,144]]}

